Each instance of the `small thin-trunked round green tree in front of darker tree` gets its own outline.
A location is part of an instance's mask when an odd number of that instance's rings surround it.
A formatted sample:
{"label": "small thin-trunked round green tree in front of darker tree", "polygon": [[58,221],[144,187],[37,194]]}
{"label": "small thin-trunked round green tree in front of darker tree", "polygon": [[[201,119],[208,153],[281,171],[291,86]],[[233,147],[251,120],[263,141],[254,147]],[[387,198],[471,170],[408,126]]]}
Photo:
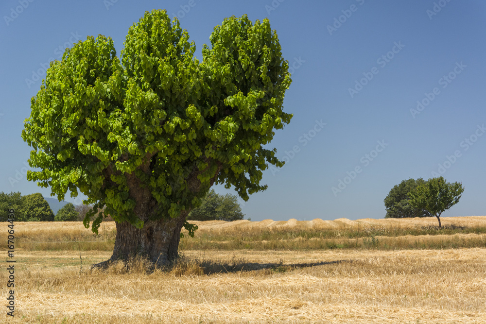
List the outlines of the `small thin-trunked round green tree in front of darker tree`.
{"label": "small thin-trunked round green tree in front of darker tree", "polygon": [[410,205],[427,210],[442,227],[440,214],[457,204],[463,191],[461,183],[449,183],[443,177],[432,178],[409,193]]}

